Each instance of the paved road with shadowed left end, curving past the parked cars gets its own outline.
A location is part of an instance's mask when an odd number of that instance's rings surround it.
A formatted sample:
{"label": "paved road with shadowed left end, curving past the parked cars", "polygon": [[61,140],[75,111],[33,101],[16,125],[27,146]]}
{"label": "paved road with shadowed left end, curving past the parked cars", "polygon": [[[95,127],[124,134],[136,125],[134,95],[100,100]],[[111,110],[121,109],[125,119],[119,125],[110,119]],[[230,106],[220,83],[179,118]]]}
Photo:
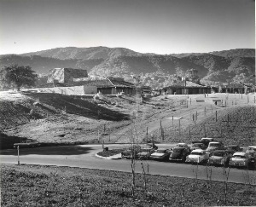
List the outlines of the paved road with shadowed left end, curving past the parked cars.
{"label": "paved road with shadowed left end, curving past the parked cars", "polygon": [[[159,147],[173,147],[173,145],[158,145]],[[125,147],[125,145],[105,145],[109,149]],[[127,147],[127,145],[126,145]],[[101,170],[118,170],[131,172],[131,160],[128,159],[103,159],[97,158],[96,152],[102,150],[101,145],[80,145],[67,147],[38,147],[21,148],[20,164],[45,164],[70,166]],[[17,150],[0,151],[1,163],[17,164]],[[172,175],[179,177],[188,177],[198,179],[207,179],[207,167],[196,166],[192,164],[164,163],[157,161],[143,161],[143,164],[149,164],[149,173],[153,175]],[[212,167],[212,180],[224,181],[224,170],[221,167]],[[142,172],[142,167],[137,161],[137,172]],[[250,183],[255,183],[256,172],[253,170],[230,169],[230,182],[245,183],[250,179]]]}

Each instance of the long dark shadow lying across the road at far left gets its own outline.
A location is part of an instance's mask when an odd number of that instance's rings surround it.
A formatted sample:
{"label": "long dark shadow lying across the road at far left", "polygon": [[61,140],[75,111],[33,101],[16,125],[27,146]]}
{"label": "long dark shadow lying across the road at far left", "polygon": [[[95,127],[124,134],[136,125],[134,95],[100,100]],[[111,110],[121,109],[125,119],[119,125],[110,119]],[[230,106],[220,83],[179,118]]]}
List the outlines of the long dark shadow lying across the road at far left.
{"label": "long dark shadow lying across the road at far left", "polygon": [[[81,146],[60,146],[60,147],[35,147],[20,148],[20,155],[38,154],[38,155],[79,155],[87,154],[91,147]],[[16,149],[6,149],[0,152],[0,155],[17,155]]]}

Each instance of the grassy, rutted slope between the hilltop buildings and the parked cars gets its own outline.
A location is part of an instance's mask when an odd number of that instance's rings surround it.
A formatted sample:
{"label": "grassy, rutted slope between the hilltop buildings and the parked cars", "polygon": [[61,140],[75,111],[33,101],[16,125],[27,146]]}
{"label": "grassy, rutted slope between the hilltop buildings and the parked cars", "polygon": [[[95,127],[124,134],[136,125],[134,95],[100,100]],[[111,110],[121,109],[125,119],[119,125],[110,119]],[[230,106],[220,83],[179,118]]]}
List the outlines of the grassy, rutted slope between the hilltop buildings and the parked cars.
{"label": "grassy, rutted slope between the hilltop buildings and the parked cars", "polygon": [[130,96],[93,99],[5,93],[0,99],[1,143],[9,136],[55,144],[152,139],[190,143],[207,136],[224,144],[248,146],[256,140],[253,98],[255,95],[160,95],[141,102]]}

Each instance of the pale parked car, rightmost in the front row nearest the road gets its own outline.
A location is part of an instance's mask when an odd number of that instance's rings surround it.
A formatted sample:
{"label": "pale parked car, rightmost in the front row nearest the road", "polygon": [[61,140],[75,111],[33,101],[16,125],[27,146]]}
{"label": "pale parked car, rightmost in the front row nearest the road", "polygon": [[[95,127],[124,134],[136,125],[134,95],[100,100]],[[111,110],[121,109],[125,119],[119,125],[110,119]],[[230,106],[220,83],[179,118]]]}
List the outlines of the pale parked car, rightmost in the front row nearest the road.
{"label": "pale parked car, rightmost in the front row nearest the road", "polygon": [[252,161],[254,163],[255,160],[251,159],[247,152],[235,152],[230,158],[230,167],[248,168]]}

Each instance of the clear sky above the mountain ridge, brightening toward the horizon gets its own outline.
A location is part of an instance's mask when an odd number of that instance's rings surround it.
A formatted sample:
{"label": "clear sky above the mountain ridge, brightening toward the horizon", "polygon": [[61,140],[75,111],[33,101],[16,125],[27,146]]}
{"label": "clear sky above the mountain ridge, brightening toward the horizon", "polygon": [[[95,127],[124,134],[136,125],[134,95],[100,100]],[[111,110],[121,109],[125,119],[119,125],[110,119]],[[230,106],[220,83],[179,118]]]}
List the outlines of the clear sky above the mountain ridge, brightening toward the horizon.
{"label": "clear sky above the mountain ridge, brightening toward the horizon", "polygon": [[0,0],[0,54],[59,47],[171,54],[255,48],[253,0]]}

